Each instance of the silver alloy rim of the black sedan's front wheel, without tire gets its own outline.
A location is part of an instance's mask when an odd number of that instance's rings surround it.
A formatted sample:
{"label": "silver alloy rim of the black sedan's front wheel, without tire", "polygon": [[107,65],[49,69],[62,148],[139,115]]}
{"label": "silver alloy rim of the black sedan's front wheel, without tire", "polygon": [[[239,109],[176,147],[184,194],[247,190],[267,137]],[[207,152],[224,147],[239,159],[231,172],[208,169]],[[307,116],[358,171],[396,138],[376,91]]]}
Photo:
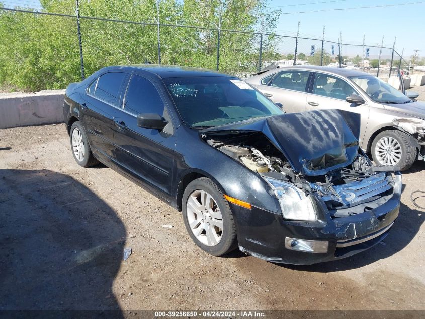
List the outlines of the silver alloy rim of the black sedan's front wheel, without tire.
{"label": "silver alloy rim of the black sedan's front wheel, without tire", "polygon": [[216,201],[205,190],[195,190],[186,204],[189,227],[206,246],[217,245],[223,235],[223,217]]}

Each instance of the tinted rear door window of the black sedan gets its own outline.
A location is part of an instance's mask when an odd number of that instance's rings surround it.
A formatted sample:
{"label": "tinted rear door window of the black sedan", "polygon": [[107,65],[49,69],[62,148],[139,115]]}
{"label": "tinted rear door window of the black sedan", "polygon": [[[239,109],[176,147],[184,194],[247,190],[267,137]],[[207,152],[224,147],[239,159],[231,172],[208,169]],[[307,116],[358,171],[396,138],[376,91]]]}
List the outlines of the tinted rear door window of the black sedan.
{"label": "tinted rear door window of the black sedan", "polygon": [[93,95],[102,101],[117,106],[118,92],[125,75],[123,72],[108,72],[101,75]]}

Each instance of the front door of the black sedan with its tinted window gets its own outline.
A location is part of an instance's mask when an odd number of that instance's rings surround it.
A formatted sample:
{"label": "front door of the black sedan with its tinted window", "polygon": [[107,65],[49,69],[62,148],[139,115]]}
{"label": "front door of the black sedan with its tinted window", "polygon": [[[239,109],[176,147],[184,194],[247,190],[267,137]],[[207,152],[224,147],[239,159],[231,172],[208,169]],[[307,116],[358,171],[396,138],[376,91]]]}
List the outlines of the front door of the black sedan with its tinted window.
{"label": "front door of the black sedan with its tinted window", "polygon": [[[114,144],[118,168],[170,201],[176,138],[165,104],[153,82],[132,74],[114,117]],[[159,114],[168,124],[162,131],[139,127],[137,115],[141,113]]]}

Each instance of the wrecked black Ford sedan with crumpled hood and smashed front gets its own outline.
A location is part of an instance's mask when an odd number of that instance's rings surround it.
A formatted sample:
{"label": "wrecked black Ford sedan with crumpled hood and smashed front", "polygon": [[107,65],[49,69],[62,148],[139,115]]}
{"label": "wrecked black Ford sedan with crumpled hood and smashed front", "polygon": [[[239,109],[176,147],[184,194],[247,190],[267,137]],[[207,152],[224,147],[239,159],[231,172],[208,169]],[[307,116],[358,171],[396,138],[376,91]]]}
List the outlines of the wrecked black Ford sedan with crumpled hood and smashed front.
{"label": "wrecked black Ford sedan with crumpled hood and smashed front", "polygon": [[116,66],[72,83],[64,117],[76,162],[111,167],[183,211],[189,235],[222,256],[313,264],[385,238],[401,174],[359,148],[359,117],[285,112],[223,73]]}

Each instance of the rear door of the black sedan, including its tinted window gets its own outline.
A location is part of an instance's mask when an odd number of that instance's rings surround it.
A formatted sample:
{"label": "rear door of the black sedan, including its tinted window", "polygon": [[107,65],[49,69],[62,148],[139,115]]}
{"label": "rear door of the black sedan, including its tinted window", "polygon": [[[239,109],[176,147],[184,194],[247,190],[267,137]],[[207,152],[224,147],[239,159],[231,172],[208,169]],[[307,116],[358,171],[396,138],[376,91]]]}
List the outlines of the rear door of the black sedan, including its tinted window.
{"label": "rear door of the black sedan, including its tinted window", "polygon": [[82,123],[92,151],[104,162],[111,162],[114,150],[112,122],[124,79],[123,72],[107,72],[93,81],[80,105]]}

